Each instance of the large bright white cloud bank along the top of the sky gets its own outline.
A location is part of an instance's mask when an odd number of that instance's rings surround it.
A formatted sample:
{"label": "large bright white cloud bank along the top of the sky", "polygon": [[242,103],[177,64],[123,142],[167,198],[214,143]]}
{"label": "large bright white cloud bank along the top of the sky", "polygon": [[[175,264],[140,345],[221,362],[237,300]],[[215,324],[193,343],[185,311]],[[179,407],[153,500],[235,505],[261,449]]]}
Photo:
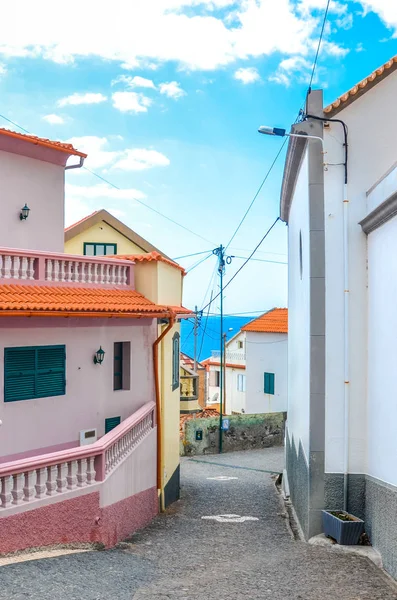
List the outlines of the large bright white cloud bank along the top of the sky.
{"label": "large bright white cloud bank along the top of the sky", "polygon": [[[384,20],[397,21],[395,2],[362,2]],[[189,70],[214,70],[276,52],[306,56],[310,42],[318,39],[324,2],[322,10],[313,7],[320,0],[301,4],[309,4],[311,12],[304,14],[291,0],[113,0],[111,11],[103,2],[69,0],[59,27],[53,0],[40,0],[40,10],[37,3],[14,0],[3,7],[0,54],[63,63],[94,57],[123,68],[172,61]],[[342,3],[332,4],[337,14]],[[17,29],[9,26],[13,22],[19,23]],[[275,23],[282,23],[282,34]]]}

